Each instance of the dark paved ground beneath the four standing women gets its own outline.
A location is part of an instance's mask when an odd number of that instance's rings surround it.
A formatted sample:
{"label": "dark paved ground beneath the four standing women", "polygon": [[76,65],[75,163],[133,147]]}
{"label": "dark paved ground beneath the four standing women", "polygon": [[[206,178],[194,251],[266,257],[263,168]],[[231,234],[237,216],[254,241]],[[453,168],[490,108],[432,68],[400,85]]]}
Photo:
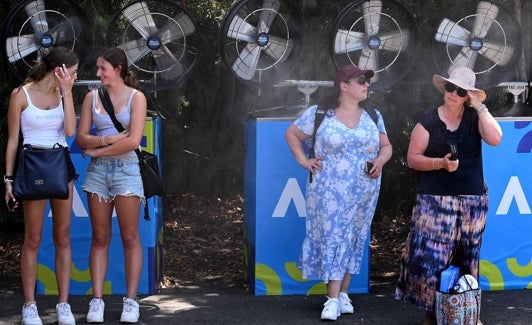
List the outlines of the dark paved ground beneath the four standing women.
{"label": "dark paved ground beneath the four standing women", "polygon": [[[393,299],[393,281],[371,283],[371,293],[352,295],[354,315],[343,315],[335,324],[421,324],[423,311]],[[482,294],[481,320],[485,325],[532,324],[532,292],[491,291]],[[254,296],[241,288],[202,284],[163,289],[140,297],[139,324],[322,324],[323,296]],[[104,324],[117,324],[122,297],[105,297]],[[90,297],[71,296],[77,324],[86,324]],[[57,324],[56,297],[38,296],[44,324]],[[23,303],[18,278],[0,277],[0,324],[20,324]]]}

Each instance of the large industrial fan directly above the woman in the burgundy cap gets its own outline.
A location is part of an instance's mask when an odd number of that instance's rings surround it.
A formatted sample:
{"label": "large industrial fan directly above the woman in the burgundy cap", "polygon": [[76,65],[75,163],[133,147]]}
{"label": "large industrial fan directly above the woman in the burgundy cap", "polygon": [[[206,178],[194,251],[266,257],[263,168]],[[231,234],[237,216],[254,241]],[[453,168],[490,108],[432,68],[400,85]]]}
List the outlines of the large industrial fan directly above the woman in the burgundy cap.
{"label": "large industrial fan directly above the woman in the burgundy cap", "polygon": [[385,89],[414,63],[417,25],[408,10],[393,0],[355,1],[335,19],[332,39],[338,68],[355,64],[374,70],[372,89]]}

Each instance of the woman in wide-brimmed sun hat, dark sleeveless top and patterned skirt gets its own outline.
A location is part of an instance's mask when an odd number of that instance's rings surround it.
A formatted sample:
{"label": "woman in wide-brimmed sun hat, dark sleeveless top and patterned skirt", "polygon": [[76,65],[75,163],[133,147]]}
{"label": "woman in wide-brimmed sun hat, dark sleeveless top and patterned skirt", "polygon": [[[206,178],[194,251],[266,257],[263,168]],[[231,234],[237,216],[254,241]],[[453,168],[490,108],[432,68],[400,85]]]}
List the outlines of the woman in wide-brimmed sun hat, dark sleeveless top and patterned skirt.
{"label": "woman in wide-brimmed sun hat, dark sleeveless top and patterned skirt", "polygon": [[488,209],[482,141],[498,145],[502,131],[475,79],[466,67],[449,78],[433,76],[444,102],[422,114],[408,147],[408,166],[419,183],[395,295],[424,308],[427,325],[436,324],[434,293],[451,260],[478,278]]}

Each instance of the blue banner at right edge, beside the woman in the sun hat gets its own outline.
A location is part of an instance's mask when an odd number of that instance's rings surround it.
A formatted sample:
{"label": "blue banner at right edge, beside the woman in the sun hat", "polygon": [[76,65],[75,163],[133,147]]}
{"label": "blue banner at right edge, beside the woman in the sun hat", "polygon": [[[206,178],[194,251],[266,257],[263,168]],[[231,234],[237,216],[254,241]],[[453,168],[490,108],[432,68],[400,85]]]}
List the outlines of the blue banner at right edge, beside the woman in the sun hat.
{"label": "blue banner at right edge, beside the woman in the sun hat", "polygon": [[499,120],[500,145],[484,144],[489,211],[480,252],[483,290],[532,288],[532,121]]}

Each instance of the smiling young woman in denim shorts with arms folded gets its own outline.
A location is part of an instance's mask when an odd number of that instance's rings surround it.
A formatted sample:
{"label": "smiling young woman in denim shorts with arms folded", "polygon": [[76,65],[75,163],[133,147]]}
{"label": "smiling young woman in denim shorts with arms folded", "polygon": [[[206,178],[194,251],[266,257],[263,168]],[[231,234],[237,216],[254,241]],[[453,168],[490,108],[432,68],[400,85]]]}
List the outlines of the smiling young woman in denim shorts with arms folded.
{"label": "smiling young woman in denim shorts with arms folded", "polygon": [[[137,81],[128,70],[123,50],[112,47],[96,60],[96,76],[107,89],[117,120],[125,131],[119,133],[93,92],[83,100],[76,142],[83,156],[91,162],[83,182],[87,193],[92,225],[90,274],[93,298],[89,303],[87,322],[104,321],[103,289],[109,263],[111,218],[116,210],[124,247],[127,293],[123,298],[121,323],[137,323],[139,304],[137,289],[142,273],[142,245],[139,235],[140,204],[144,199],[137,155],[146,121],[146,97],[137,91]],[[96,135],[91,128],[96,128]]]}

